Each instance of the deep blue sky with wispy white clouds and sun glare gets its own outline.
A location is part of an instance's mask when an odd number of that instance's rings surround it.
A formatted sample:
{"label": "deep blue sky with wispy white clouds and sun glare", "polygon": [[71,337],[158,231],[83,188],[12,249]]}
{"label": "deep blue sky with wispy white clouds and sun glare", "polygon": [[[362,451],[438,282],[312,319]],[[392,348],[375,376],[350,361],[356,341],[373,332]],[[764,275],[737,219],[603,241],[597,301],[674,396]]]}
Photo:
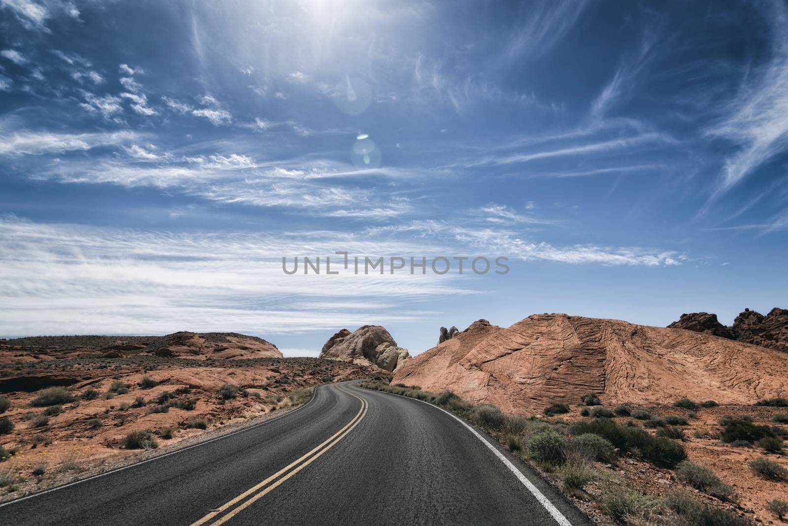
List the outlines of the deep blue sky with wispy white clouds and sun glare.
{"label": "deep blue sky with wispy white clouds and sun glare", "polygon": [[[0,0],[0,334],[730,324],[786,150],[781,2]],[[336,250],[511,272],[281,271]]]}

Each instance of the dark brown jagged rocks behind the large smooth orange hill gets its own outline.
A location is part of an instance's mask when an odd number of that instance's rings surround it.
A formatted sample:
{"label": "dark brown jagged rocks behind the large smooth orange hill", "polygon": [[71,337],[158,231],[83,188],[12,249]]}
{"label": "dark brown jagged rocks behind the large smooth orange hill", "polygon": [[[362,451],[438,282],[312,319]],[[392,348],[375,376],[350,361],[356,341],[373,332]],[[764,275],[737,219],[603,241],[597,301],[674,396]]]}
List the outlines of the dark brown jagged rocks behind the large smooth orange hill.
{"label": "dark brown jagged rocks behind the large smooth orange hill", "polygon": [[744,309],[736,317],[732,327],[719,323],[716,314],[682,314],[680,320],[674,321],[667,327],[704,332],[788,352],[788,309],[775,307],[766,316],[754,310]]}

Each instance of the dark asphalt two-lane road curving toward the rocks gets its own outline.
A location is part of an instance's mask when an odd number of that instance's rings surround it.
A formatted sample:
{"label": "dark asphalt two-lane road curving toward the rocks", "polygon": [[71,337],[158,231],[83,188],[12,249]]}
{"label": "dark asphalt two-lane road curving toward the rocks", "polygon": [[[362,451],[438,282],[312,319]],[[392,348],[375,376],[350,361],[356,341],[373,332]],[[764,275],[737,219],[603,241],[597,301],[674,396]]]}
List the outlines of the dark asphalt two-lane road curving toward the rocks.
{"label": "dark asphalt two-lane road curving toward the rocks", "polygon": [[0,524],[590,523],[451,414],[336,383],[276,420],[9,502]]}

